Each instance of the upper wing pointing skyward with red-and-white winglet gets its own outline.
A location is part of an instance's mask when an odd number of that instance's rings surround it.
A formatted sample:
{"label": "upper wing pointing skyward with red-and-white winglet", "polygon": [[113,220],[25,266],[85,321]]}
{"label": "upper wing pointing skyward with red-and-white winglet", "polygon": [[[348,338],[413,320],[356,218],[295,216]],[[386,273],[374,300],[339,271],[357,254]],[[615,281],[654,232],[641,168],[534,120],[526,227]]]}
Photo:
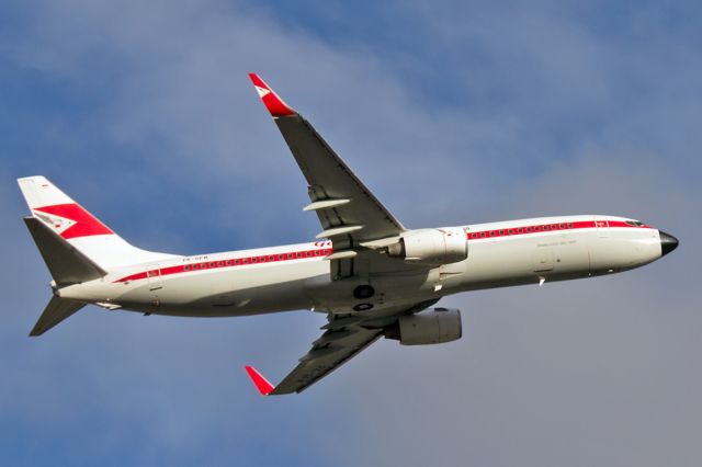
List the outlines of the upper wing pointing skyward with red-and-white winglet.
{"label": "upper wing pointing skyward with red-and-white winglet", "polygon": [[361,243],[394,237],[403,225],[349,169],[315,128],[273,92],[258,75],[249,77],[283,134],[308,184],[322,231],[317,238],[333,240],[335,258],[353,258]]}

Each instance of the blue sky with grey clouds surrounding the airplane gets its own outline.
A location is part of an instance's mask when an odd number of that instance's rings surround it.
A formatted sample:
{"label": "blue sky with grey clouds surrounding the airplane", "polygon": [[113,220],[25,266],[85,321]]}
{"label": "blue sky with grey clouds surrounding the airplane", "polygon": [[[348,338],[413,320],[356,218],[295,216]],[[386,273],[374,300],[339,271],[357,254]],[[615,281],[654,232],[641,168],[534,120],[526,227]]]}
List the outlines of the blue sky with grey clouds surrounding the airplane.
{"label": "blue sky with grey clouds surrounding the airplane", "polygon": [[[0,7],[3,465],[697,466],[702,11],[695,2],[69,0]],[[378,342],[260,398],[308,311],[87,308],[26,337],[48,273],[14,179],[183,253],[305,241],[258,71],[410,227],[601,213],[681,239],[618,276],[442,300],[464,338]]]}

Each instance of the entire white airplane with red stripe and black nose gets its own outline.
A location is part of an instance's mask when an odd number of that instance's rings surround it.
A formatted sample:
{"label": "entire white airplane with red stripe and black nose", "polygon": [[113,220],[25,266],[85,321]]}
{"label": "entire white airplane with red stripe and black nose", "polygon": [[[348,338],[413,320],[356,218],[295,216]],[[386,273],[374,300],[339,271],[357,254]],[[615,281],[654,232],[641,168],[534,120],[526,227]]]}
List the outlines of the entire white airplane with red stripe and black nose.
{"label": "entire white airplane with red stripe and black nose", "polygon": [[468,291],[632,270],[678,247],[638,220],[577,215],[409,229],[315,128],[258,75],[249,75],[307,181],[321,231],[314,242],[179,255],[136,248],[44,176],[19,179],[24,221],[53,281],[30,335],[86,305],[178,317],[309,309],[327,323],[278,385],[246,371],[263,396],[301,392],[384,337],[404,345],[462,335],[457,309],[433,307]]}

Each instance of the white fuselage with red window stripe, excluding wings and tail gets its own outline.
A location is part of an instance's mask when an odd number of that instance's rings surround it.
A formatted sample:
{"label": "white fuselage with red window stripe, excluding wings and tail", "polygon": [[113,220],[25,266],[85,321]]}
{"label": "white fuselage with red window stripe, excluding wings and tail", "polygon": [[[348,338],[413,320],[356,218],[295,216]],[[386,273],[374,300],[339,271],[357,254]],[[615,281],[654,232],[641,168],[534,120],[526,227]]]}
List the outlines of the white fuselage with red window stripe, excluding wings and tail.
{"label": "white fuselage with red window stripe, excluding wings and tail", "polygon": [[[330,241],[172,257],[115,269],[92,282],[56,291],[60,297],[148,314],[224,317],[294,309],[333,312],[365,301],[382,317],[392,306],[464,291],[539,284],[621,272],[661,257],[659,231],[612,216],[568,216],[462,227],[465,261],[358,280],[332,281]],[[353,297],[359,281],[377,293]],[[320,309],[322,310],[322,309]]]}

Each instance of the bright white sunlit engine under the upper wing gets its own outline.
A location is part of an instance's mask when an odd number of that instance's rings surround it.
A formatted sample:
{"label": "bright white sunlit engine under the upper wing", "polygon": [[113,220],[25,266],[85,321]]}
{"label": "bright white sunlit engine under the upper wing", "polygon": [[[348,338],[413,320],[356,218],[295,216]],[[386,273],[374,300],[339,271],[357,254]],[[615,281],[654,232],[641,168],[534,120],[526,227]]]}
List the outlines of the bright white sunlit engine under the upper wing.
{"label": "bright white sunlit engine under the upper wing", "polygon": [[411,230],[387,248],[387,255],[420,264],[450,264],[468,258],[462,228]]}

